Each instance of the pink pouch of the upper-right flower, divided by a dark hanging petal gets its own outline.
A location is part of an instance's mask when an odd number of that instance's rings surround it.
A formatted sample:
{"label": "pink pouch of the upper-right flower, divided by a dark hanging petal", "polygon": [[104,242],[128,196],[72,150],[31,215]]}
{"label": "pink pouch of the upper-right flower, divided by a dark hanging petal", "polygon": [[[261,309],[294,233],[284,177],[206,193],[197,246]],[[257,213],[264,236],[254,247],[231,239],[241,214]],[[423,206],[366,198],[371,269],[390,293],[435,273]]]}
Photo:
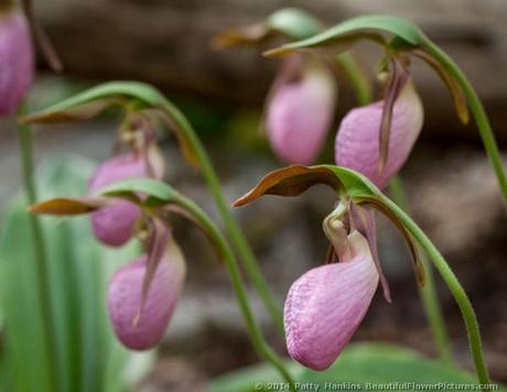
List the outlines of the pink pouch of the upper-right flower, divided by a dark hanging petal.
{"label": "pink pouch of the upper-right flower, divided by a dark hanging petal", "polygon": [[408,81],[398,97],[389,138],[389,153],[384,173],[379,173],[379,131],[382,101],[353,109],[339,124],[335,143],[335,160],[339,166],[363,173],[384,188],[407,161],[422,129],[422,102]]}

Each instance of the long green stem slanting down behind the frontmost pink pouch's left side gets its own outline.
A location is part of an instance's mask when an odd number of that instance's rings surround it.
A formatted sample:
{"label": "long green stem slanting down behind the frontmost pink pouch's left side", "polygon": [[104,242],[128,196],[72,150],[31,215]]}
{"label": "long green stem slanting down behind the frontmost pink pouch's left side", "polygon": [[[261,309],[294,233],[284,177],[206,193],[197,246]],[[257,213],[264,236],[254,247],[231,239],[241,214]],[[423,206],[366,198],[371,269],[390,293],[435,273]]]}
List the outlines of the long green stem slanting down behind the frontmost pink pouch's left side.
{"label": "long green stem slanting down behind the frontmost pink pouch's left side", "polygon": [[182,112],[173,106],[169,100],[164,99],[163,109],[169,113],[169,116],[176,122],[176,124],[181,128],[181,130],[185,133],[188,138],[190,143],[192,144],[199,163],[199,170],[209,187],[209,190],[215,199],[215,203],[218,207],[218,211],[224,220],[224,224],[227,228],[227,231],[230,236],[230,240],[239,253],[239,257],[242,261],[242,265],[250,277],[251,282],[254,283],[255,288],[259,293],[262,302],[265,303],[271,318],[273,319],[279,333],[284,336],[284,328],[283,328],[283,318],[282,313],[277,304],[273,295],[271,294],[268,284],[266,283],[260,268],[256,261],[256,257],[250,249],[245,236],[242,235],[238,224],[236,222],[235,218],[233,217],[229,206],[225,200],[225,197],[222,193],[220,183],[218,181],[218,176],[211,163],[211,160],[201,142],[198,137],[196,135],[194,129],[192,128],[191,123],[186,120],[186,118],[182,115]]}

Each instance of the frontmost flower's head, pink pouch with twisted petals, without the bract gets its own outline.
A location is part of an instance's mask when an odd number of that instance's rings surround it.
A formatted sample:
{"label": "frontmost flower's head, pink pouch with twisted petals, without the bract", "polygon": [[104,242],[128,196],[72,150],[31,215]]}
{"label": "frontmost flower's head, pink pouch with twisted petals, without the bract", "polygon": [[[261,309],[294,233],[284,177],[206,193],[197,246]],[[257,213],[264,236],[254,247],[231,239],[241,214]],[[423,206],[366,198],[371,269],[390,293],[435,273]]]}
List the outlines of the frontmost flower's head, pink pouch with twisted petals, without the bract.
{"label": "frontmost flower's head, pink pouch with twisted petals, without the bract", "polygon": [[365,317],[379,282],[390,302],[376,253],[373,211],[341,203],[323,228],[331,258],[292,284],[283,311],[289,355],[313,370],[327,369],[336,360]]}

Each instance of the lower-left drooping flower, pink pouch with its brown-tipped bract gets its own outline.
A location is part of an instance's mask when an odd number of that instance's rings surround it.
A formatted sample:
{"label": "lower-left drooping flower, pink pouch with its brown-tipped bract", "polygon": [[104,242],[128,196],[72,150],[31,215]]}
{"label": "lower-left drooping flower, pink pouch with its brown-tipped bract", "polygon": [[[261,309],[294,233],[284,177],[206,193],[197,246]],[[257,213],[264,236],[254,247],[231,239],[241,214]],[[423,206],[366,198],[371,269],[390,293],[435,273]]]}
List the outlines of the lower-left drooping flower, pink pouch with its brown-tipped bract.
{"label": "lower-left drooping flower, pink pouch with its brown-tipped bract", "polygon": [[[136,184],[144,186],[139,185],[139,188],[133,190]],[[39,214],[72,216],[94,214],[107,208],[111,200],[118,202],[119,198],[145,206],[139,236],[144,254],[118,269],[109,282],[107,292],[107,305],[115,334],[126,347],[136,350],[150,349],[161,341],[186,274],[184,255],[172,236],[166,218],[171,211],[186,217],[192,216],[192,211],[187,211],[185,207],[163,207],[164,203],[183,203],[181,199],[175,202],[173,198],[158,198],[161,204],[158,204],[157,208],[145,205],[150,197],[159,197],[155,196],[157,193],[150,192],[154,184],[160,185],[159,189],[164,187],[155,179],[138,178],[117,184],[115,190],[105,189],[105,195],[57,197],[31,207],[32,211]],[[121,190],[118,193],[118,189]],[[166,189],[171,188],[168,186]],[[140,194],[142,197],[136,197]]]}

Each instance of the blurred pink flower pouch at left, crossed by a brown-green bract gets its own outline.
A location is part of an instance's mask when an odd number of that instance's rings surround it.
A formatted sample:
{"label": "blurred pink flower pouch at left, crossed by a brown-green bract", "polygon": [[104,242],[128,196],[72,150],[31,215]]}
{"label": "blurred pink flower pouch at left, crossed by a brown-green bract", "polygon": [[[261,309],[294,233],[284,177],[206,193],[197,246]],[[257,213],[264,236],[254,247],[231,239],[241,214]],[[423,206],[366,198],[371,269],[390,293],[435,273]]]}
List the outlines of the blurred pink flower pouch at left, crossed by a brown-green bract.
{"label": "blurred pink flower pouch at left, crossed by a brown-green bract", "polygon": [[[142,157],[133,153],[116,156],[98,166],[88,182],[88,192],[96,193],[115,182],[144,176],[147,172]],[[99,241],[111,247],[120,247],[132,237],[140,215],[140,208],[133,203],[117,200],[90,215],[91,227]]]}

